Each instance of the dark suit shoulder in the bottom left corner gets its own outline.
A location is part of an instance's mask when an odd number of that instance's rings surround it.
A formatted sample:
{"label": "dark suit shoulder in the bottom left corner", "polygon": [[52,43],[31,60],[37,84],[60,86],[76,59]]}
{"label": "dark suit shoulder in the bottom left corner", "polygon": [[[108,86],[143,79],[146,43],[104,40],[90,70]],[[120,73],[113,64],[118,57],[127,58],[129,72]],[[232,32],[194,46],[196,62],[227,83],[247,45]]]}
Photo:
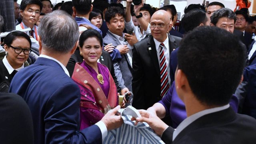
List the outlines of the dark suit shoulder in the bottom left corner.
{"label": "dark suit shoulder in the bottom left corner", "polygon": [[17,94],[0,93],[0,143],[34,144],[31,112]]}

